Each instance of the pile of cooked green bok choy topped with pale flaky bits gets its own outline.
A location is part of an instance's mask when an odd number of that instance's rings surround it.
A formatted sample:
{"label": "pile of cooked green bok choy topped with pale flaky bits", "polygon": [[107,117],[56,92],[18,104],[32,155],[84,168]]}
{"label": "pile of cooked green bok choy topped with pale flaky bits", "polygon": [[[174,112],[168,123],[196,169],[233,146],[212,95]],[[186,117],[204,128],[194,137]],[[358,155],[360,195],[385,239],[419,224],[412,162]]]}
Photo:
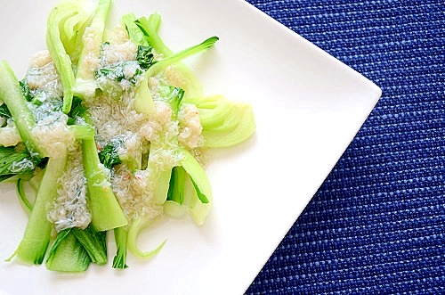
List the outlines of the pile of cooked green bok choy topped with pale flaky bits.
{"label": "pile of cooked green bok choy topped with pale flaky bits", "polygon": [[[172,52],[159,14],[133,13],[107,29],[110,0],[62,0],[47,20],[47,50],[18,80],[0,61],[0,181],[15,181],[28,225],[9,258],[53,271],[125,268],[127,250],[160,216],[201,225],[212,192],[206,151],[255,132],[251,107],[205,96],[181,62],[218,37]],[[25,193],[24,184],[35,195]]]}

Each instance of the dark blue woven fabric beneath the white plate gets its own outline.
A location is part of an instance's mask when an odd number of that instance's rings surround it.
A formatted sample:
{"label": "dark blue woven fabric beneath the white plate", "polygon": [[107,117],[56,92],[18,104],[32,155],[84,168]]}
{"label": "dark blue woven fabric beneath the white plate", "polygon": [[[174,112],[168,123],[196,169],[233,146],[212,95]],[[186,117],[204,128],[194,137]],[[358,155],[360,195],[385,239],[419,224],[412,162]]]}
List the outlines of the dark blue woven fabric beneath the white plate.
{"label": "dark blue woven fabric beneath the white plate", "polygon": [[445,4],[248,0],[383,96],[247,294],[445,294]]}

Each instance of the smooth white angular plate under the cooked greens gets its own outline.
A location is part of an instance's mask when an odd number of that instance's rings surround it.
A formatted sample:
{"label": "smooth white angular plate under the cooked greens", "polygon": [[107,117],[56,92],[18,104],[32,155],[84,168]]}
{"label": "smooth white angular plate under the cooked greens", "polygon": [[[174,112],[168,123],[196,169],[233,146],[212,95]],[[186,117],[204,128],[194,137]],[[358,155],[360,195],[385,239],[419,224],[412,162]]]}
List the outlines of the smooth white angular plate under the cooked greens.
{"label": "smooth white angular plate under the cooked greens", "polygon": [[[0,5],[0,58],[19,78],[31,55],[44,48],[45,19],[55,3]],[[220,37],[189,64],[206,94],[251,102],[257,132],[237,148],[214,152],[207,168],[214,209],[206,225],[190,219],[159,223],[140,242],[149,249],[168,239],[164,249],[148,261],[130,255],[125,271],[109,262],[83,275],[60,275],[44,266],[5,263],[27,217],[13,185],[2,186],[0,293],[243,293],[381,94],[368,79],[240,0],[115,0],[112,14],[126,12],[160,12],[161,36],[174,50]]]}

